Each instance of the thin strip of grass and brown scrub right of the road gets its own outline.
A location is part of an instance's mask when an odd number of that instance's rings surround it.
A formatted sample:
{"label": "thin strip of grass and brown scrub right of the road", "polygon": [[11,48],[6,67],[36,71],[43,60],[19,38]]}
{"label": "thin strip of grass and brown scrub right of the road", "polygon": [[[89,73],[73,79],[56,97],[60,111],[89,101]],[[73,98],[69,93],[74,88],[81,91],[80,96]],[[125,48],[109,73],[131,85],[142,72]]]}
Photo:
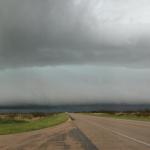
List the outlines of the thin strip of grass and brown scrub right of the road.
{"label": "thin strip of grass and brown scrub right of the road", "polygon": [[150,121],[150,113],[86,113],[88,115],[94,115],[99,117],[111,117],[114,119],[128,119],[137,121]]}

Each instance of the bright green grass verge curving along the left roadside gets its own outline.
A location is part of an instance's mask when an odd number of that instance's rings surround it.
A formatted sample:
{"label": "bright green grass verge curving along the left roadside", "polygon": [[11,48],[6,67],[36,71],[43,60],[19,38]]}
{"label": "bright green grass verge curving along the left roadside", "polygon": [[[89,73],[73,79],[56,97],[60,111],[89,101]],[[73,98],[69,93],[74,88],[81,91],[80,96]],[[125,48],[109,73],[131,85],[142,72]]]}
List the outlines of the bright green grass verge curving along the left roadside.
{"label": "bright green grass verge curving along the left roadside", "polygon": [[66,113],[54,114],[37,120],[0,119],[0,134],[11,134],[52,127],[68,120]]}

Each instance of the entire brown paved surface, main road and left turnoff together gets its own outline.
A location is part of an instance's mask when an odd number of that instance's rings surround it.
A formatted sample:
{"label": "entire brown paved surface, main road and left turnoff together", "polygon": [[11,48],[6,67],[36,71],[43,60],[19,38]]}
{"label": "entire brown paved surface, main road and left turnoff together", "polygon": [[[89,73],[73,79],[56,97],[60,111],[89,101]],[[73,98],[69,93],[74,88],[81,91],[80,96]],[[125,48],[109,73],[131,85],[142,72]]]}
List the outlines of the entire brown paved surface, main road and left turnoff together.
{"label": "entire brown paved surface, main road and left turnoff together", "polygon": [[149,150],[150,122],[69,114],[52,128],[1,135],[2,150]]}

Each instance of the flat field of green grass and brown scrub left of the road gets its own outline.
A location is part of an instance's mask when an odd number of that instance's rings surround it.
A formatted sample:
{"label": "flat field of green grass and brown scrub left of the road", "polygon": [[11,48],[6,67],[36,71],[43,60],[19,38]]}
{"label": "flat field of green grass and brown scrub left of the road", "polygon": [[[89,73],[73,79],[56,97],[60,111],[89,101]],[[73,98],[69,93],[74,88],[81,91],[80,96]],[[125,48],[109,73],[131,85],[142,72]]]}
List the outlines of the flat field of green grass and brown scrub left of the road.
{"label": "flat field of green grass and brown scrub left of the road", "polygon": [[68,119],[66,113],[58,114],[1,114],[0,134],[19,133],[58,125]]}

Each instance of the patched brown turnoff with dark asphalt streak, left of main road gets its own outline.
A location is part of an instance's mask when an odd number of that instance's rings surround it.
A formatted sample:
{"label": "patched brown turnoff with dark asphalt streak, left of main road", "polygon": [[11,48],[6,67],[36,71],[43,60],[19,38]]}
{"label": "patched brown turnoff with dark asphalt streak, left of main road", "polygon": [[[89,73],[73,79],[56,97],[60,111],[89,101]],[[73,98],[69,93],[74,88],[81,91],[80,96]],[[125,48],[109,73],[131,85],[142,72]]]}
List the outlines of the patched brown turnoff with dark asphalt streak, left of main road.
{"label": "patched brown turnoff with dark asphalt streak, left of main road", "polygon": [[73,121],[36,131],[0,135],[0,150],[97,150]]}

